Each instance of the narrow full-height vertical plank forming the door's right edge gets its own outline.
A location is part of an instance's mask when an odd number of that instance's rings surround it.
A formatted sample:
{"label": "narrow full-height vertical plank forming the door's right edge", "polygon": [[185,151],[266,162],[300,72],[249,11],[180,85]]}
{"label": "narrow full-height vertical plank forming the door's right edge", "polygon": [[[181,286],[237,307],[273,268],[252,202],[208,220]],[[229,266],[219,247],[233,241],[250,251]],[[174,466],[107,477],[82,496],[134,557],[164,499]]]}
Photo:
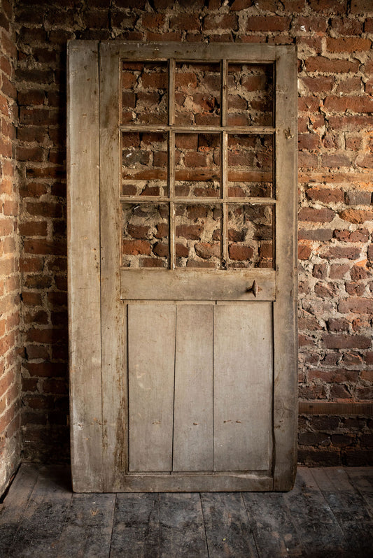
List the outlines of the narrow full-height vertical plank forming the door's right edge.
{"label": "narrow full-height vertical plank forming the door's right edge", "polygon": [[289,490],[297,466],[297,52],[276,53],[274,489]]}

